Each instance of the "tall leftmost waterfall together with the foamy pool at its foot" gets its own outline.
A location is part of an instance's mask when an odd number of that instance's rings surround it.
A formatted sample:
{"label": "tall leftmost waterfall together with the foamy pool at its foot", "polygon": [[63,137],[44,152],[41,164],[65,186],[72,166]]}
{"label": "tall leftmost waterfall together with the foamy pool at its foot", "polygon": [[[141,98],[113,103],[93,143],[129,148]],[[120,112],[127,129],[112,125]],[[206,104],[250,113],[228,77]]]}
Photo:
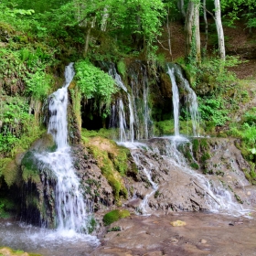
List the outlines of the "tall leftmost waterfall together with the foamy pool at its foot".
{"label": "tall leftmost waterfall together with the foamy pool at its foot", "polygon": [[[55,212],[57,229],[27,226],[19,222],[0,223],[0,243],[14,249],[37,251],[43,255],[80,255],[77,251],[91,251],[99,245],[96,237],[88,235],[92,206],[84,200],[80,190],[80,179],[76,176],[68,144],[68,87],[74,76],[73,63],[65,69],[65,84],[49,96],[48,133],[57,145],[52,153],[35,154],[39,169],[52,172],[55,186]],[[65,245],[69,243],[69,246]],[[81,248],[84,247],[84,249]],[[73,252],[69,252],[72,248]],[[45,252],[46,250],[46,252]],[[83,255],[83,254],[82,254]]]}

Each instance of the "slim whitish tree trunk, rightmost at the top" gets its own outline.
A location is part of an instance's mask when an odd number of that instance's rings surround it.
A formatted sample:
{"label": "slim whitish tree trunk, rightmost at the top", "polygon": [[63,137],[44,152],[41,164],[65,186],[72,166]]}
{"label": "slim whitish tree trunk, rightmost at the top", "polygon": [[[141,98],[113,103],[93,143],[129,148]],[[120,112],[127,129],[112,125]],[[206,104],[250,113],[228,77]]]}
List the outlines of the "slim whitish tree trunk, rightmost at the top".
{"label": "slim whitish tree trunk, rightmost at the top", "polygon": [[220,14],[220,3],[219,0],[214,0],[215,5],[215,24],[218,33],[218,40],[219,40],[219,57],[220,59],[226,59],[225,53],[225,41],[224,41],[224,32],[221,22],[221,14]]}

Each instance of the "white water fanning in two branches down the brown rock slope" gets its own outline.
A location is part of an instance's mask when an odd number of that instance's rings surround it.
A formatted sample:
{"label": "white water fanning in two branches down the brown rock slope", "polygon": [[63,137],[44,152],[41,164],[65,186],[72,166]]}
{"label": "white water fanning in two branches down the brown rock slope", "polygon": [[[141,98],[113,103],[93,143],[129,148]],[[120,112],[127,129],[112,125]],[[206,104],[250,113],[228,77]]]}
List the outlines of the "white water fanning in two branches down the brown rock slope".
{"label": "white water fanning in two branches down the brown rock slope", "polygon": [[[139,172],[142,172],[147,178],[147,181],[144,182],[151,185],[151,188],[145,195],[140,195],[140,197],[144,196],[144,199],[139,206],[139,212],[146,215],[150,212],[149,206],[155,208],[155,205],[157,205],[154,195],[158,189],[160,193],[161,189],[163,189],[162,185],[165,183],[165,180],[160,181],[161,177],[159,177],[159,174],[161,174],[162,168],[164,167],[171,171],[168,176],[176,176],[176,172],[188,176],[188,183],[195,187],[198,195],[203,197],[202,202],[204,202],[203,204],[208,210],[233,216],[248,214],[250,210],[248,208],[242,208],[236,202],[231,192],[222,187],[219,182],[215,183],[213,180],[209,182],[207,176],[199,174],[189,167],[186,156],[178,150],[183,145],[188,146],[190,154],[193,155],[192,144],[185,137],[169,136],[152,139],[146,142],[146,144],[126,144],[130,148],[133,161]],[[195,159],[193,160],[196,162]],[[154,181],[152,172],[154,172],[154,176],[156,177]],[[143,176],[142,178],[144,179]],[[157,184],[159,181],[160,183]],[[165,198],[163,201],[165,201]]]}

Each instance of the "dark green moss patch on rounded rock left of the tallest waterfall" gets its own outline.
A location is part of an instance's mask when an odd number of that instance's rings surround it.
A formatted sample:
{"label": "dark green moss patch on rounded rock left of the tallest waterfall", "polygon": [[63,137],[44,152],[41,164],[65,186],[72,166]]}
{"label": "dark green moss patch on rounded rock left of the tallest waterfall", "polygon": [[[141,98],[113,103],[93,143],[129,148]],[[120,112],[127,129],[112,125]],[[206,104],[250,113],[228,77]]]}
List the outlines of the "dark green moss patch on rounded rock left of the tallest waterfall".
{"label": "dark green moss patch on rounded rock left of the tallest waterfall", "polygon": [[24,155],[22,161],[22,177],[27,182],[28,179],[35,181],[36,183],[40,181],[39,171],[37,168],[37,159],[31,151],[28,151]]}

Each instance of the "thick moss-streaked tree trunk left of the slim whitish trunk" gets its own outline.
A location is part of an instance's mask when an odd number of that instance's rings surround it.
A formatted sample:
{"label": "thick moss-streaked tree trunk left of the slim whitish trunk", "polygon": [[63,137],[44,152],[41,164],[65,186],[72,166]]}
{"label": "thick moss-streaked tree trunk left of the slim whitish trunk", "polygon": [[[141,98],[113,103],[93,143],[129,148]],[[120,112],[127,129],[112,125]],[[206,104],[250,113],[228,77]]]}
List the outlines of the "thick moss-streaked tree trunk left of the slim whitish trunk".
{"label": "thick moss-streaked tree trunk left of the slim whitish trunk", "polygon": [[186,57],[201,61],[200,31],[199,31],[199,2],[190,0],[187,6],[185,23]]}

